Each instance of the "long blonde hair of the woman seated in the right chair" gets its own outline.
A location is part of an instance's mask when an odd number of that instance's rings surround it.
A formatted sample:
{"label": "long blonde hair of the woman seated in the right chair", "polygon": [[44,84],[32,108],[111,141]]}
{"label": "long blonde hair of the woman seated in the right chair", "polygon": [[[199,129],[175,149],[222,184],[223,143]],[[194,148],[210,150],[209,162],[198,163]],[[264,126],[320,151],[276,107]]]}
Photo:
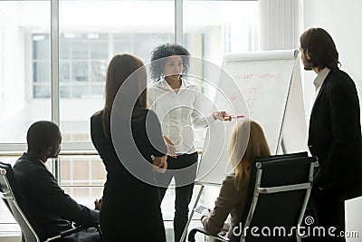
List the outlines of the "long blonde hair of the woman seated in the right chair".
{"label": "long blonde hair of the woman seated in the right chair", "polygon": [[230,154],[234,166],[234,185],[239,190],[250,179],[252,160],[271,155],[262,127],[251,120],[237,123],[230,141]]}

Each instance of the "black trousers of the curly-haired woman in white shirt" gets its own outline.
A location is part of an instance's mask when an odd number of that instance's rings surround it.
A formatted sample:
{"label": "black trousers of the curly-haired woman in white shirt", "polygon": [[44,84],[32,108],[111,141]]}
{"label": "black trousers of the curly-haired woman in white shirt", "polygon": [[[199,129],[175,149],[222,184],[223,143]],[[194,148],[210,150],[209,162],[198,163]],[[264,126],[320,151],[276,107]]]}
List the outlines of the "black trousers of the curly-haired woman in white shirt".
{"label": "black trousers of the curly-haired woman in white shirt", "polygon": [[190,204],[195,184],[197,159],[197,152],[179,155],[176,159],[167,157],[167,171],[156,175],[160,203],[165,197],[167,187],[172,178],[175,178],[175,242],[180,241],[186,227],[189,212],[188,205]]}

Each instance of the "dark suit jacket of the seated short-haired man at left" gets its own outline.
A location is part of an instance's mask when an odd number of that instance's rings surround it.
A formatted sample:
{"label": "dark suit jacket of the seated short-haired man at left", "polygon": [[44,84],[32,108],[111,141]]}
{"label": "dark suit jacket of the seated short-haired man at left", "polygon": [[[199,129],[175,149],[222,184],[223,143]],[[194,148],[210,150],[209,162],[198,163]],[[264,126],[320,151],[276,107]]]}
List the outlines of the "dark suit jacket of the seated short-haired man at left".
{"label": "dark suit jacket of the seated short-haired man at left", "polygon": [[92,226],[99,223],[99,211],[78,204],[59,187],[42,161],[24,153],[14,165],[14,178],[45,237],[71,228],[71,222]]}

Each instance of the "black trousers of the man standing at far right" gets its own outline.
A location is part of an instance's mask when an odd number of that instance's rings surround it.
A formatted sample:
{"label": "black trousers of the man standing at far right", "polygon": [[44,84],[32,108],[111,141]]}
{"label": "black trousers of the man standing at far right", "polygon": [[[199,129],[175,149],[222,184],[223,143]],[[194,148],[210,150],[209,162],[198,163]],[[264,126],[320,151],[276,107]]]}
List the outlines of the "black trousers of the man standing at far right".
{"label": "black trousers of the man standing at far right", "polygon": [[[346,242],[345,201],[332,190],[313,188],[310,199],[314,208],[314,223],[310,225],[310,237],[303,242]],[[306,215],[304,218],[311,216]],[[323,227],[323,228],[321,228]],[[314,231],[313,231],[314,228]],[[319,228],[319,229],[318,229]],[[319,232],[320,231],[320,232]],[[324,234],[322,233],[324,231]]]}

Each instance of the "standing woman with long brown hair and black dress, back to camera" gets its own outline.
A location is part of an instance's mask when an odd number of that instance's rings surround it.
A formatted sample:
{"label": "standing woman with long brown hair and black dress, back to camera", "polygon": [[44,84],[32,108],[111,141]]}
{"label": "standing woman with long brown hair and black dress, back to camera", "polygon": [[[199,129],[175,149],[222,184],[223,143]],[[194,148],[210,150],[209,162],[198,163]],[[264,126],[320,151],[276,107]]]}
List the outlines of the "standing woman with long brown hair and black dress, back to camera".
{"label": "standing woman with long brown hair and black dress, back to camera", "polygon": [[[147,109],[146,86],[144,63],[130,54],[115,55],[106,76],[105,106],[90,118],[91,140],[107,169],[100,208],[105,242],[166,241],[157,187],[140,176],[153,178],[151,164],[167,168],[167,147],[156,114]],[[114,126],[111,117],[119,118],[112,119]]]}

